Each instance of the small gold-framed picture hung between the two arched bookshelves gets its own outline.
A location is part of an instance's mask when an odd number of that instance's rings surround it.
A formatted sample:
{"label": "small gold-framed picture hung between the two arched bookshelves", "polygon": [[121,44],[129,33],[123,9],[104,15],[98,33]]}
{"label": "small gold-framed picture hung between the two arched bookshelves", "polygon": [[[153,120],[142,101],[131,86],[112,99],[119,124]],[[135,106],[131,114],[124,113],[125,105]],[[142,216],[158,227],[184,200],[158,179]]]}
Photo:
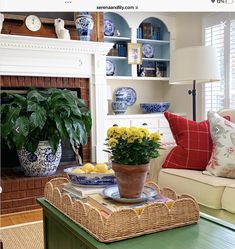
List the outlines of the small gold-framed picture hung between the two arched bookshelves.
{"label": "small gold-framed picture hung between the two arched bookshelves", "polygon": [[142,48],[141,43],[128,43],[127,44],[128,64],[141,64],[142,63],[141,48]]}

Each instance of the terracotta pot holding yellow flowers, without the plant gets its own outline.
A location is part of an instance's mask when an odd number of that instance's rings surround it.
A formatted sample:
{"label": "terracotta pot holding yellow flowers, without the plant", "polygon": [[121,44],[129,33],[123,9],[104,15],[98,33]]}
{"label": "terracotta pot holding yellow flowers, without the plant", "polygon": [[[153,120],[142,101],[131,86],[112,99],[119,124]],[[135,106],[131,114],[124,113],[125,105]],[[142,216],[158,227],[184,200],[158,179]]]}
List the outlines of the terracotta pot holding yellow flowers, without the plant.
{"label": "terracotta pot holding yellow flowers, without the plant", "polygon": [[123,198],[138,198],[143,192],[149,164],[126,165],[112,163],[120,196]]}

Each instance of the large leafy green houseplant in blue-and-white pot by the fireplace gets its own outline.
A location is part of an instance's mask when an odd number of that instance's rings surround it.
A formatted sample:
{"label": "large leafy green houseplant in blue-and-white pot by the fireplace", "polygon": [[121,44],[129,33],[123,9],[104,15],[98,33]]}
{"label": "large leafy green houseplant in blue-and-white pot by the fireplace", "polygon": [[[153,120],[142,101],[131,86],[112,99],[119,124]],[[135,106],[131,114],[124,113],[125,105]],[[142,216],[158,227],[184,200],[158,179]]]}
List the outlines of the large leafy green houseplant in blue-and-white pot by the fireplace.
{"label": "large leafy green houseplant in blue-and-white pot by the fireplace", "polygon": [[69,139],[74,151],[87,142],[91,114],[73,92],[30,89],[26,95],[6,97],[8,101],[1,105],[1,136],[10,149],[17,149],[26,175],[53,174],[64,139]]}

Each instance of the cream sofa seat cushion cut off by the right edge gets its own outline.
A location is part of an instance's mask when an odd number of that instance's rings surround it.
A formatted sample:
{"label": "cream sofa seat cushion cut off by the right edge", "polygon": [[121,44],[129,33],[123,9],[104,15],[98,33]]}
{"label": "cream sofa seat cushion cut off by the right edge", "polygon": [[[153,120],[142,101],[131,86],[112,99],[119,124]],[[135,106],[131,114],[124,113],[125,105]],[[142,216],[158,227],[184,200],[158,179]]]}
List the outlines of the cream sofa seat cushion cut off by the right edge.
{"label": "cream sofa seat cushion cut off by the right edge", "polygon": [[222,208],[235,214],[235,183],[226,186],[222,196]]}

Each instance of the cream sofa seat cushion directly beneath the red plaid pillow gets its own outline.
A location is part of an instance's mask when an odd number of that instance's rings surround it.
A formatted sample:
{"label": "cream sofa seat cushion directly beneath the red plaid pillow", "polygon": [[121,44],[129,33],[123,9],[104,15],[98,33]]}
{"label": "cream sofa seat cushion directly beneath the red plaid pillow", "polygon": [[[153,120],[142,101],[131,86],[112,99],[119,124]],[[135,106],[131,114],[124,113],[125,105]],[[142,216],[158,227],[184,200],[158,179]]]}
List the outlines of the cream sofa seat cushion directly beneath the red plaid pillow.
{"label": "cream sofa seat cushion directly beneath the red plaid pillow", "polygon": [[221,209],[221,199],[226,186],[234,183],[233,179],[208,176],[197,170],[162,169],[159,173],[160,187],[170,187],[177,194],[192,195],[199,204]]}

